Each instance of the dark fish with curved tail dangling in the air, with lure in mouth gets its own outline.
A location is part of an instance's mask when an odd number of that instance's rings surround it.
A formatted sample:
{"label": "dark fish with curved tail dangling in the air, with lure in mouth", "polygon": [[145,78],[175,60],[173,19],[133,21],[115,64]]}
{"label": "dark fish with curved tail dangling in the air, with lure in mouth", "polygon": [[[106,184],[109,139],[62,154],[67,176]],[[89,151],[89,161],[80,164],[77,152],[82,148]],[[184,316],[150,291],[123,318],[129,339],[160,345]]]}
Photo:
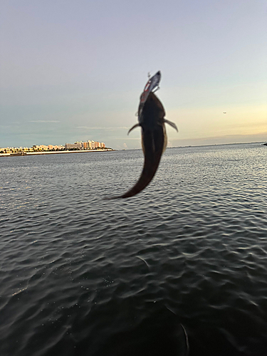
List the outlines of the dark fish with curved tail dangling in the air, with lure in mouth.
{"label": "dark fish with curved tail dangling in the air, with lure in mouth", "polygon": [[155,176],[162,153],[167,145],[167,135],[164,124],[167,123],[177,130],[177,126],[174,122],[164,119],[165,111],[163,105],[155,95],[155,91],[159,88],[160,78],[161,74],[160,71],[158,71],[147,81],[140,97],[138,123],[129,130],[129,132],[131,132],[135,127],[140,126],[142,131],[142,150],[144,152],[145,162],[140,178],[125,194],[117,197],[106,197],[105,199],[129,198],[142,192]]}

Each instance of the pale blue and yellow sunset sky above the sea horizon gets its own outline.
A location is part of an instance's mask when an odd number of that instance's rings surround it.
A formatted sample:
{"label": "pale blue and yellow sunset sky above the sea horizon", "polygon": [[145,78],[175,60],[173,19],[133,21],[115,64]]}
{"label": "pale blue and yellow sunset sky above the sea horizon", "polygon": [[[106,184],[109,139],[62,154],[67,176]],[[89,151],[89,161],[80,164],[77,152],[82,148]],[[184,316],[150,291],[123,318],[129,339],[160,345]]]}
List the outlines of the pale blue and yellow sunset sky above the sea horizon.
{"label": "pale blue and yellow sunset sky above the sea horizon", "polygon": [[157,70],[169,147],[266,142],[266,15],[265,0],[2,0],[0,147],[140,148],[127,131]]}

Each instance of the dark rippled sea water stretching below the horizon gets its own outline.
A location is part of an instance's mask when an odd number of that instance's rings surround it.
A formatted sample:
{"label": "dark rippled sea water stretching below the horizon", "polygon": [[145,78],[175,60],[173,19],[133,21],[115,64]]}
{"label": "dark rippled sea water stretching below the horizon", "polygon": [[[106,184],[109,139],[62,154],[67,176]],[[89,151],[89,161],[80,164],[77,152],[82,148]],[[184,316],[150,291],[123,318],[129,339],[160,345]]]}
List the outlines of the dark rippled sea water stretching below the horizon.
{"label": "dark rippled sea water stretching below the horizon", "polygon": [[[0,355],[267,355],[267,147],[0,160]],[[183,325],[184,329],[182,328]]]}

